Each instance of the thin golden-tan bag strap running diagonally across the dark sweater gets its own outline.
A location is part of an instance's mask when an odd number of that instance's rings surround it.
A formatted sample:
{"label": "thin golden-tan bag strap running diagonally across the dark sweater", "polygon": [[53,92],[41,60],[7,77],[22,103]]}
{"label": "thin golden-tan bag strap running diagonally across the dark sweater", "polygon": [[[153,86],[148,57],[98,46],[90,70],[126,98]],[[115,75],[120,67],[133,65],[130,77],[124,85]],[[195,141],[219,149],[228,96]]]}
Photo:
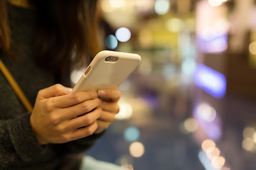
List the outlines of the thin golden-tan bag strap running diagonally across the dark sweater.
{"label": "thin golden-tan bag strap running diagonally across the dark sweater", "polygon": [[4,65],[4,62],[2,62],[1,60],[0,60],[0,69],[1,69],[1,72],[4,74],[4,77],[6,78],[6,80],[11,85],[12,89],[14,89],[15,94],[18,96],[23,106],[26,108],[27,111],[31,112],[33,110],[31,103],[28,101],[28,98],[26,98],[25,94],[23,94],[23,91],[18,86],[14,77],[12,77],[9,70]]}

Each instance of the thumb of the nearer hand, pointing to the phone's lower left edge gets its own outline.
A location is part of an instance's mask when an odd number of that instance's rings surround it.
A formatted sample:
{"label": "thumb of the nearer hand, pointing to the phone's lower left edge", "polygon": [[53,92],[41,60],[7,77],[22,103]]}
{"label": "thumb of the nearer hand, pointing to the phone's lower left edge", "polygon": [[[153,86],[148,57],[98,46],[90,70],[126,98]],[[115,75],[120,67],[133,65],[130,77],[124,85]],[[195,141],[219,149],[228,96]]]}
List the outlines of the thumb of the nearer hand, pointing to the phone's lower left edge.
{"label": "thumb of the nearer hand, pointing to the phone's lower left edge", "polygon": [[38,91],[38,99],[51,98],[55,96],[63,96],[65,94],[70,94],[71,91],[72,91],[71,88],[65,87],[61,84],[55,84],[46,89],[42,89],[41,91]]}

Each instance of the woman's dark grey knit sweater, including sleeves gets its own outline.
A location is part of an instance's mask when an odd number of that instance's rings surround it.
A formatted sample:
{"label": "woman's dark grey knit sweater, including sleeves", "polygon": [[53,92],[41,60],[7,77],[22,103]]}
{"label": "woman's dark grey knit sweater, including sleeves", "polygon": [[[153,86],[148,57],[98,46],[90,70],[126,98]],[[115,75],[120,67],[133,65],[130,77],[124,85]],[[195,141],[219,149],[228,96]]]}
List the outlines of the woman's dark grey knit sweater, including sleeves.
{"label": "woman's dark grey knit sweater, including sleeves", "polygon": [[[55,74],[37,66],[33,55],[35,11],[9,6],[11,49],[18,60],[0,52],[14,79],[34,104],[37,92],[56,83]],[[65,84],[66,86],[68,84]],[[33,134],[27,113],[0,72],[0,169],[78,169],[78,153],[90,148],[100,135],[61,145],[40,145]]]}

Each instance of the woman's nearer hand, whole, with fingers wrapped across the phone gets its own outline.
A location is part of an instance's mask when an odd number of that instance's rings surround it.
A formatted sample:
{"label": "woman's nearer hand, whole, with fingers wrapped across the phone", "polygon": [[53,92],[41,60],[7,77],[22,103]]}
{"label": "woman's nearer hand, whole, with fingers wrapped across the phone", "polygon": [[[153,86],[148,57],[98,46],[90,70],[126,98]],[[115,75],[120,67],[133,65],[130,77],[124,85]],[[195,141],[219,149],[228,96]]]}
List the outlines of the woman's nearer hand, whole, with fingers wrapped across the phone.
{"label": "woman's nearer hand, whole, with fingers wrapped across the phone", "polygon": [[38,142],[65,143],[92,135],[102,114],[101,103],[95,91],[70,94],[70,88],[60,84],[38,91],[30,118]]}

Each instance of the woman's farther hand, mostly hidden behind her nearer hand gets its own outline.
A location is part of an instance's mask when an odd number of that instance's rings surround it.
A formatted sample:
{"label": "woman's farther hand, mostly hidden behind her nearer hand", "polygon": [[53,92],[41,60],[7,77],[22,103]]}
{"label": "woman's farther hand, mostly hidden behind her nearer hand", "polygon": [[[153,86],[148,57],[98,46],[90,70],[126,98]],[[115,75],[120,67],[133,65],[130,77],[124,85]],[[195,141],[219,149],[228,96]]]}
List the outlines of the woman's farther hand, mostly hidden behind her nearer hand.
{"label": "woman's farther hand, mostly hidden behind her nearer hand", "polygon": [[95,134],[99,134],[106,130],[109,125],[116,120],[115,115],[119,112],[117,101],[121,97],[121,92],[112,89],[102,89],[98,91],[98,96],[102,99],[100,107],[102,108],[102,115],[97,119],[97,130]]}

